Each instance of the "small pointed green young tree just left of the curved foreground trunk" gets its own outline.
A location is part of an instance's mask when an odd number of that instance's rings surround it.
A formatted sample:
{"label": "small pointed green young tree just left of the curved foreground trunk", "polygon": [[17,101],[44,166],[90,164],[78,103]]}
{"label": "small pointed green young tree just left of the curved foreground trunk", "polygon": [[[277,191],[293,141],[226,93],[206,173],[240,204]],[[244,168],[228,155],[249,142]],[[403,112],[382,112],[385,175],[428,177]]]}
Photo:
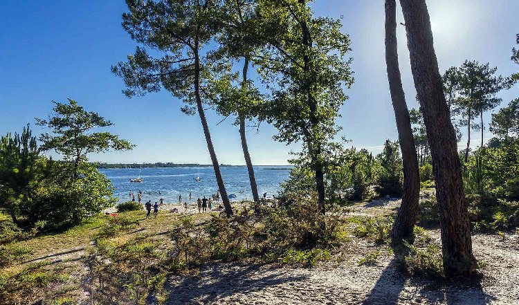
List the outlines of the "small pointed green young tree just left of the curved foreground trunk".
{"label": "small pointed green young tree just left of the curved foreground trunk", "polygon": [[384,150],[376,158],[382,167],[376,191],[381,196],[401,197],[403,194],[403,165],[399,143],[386,140]]}

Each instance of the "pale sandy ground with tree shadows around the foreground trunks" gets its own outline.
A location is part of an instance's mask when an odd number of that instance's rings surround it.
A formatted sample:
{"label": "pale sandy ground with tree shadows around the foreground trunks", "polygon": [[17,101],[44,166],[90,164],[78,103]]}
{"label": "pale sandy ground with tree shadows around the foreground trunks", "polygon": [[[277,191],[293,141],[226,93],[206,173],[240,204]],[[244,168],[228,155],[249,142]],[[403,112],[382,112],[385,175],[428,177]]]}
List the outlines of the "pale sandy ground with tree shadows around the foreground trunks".
{"label": "pale sandy ground with tree shadows around the foreground trunks", "polygon": [[[356,205],[350,215],[386,214],[399,200]],[[439,241],[439,230],[429,231]],[[356,239],[345,261],[314,268],[215,264],[197,277],[172,277],[166,304],[519,304],[519,237],[475,234],[473,250],[487,265],[480,283],[435,282],[408,277],[394,268],[393,256],[374,266],[357,261],[373,246]]]}

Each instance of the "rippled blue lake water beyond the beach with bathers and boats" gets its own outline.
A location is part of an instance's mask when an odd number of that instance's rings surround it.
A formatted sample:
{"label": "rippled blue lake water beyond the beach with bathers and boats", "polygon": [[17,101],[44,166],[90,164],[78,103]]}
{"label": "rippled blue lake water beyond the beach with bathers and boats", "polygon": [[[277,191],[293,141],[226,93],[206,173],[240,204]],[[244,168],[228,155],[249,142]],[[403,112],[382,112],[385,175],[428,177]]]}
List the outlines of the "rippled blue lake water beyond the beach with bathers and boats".
{"label": "rippled blue lake water beyond the beach with bathers and boats", "polygon": [[[220,167],[221,174],[224,176],[227,194],[235,194],[232,201],[252,199],[251,183],[248,179],[246,167]],[[212,167],[161,167],[140,169],[140,176],[143,183],[131,183],[131,178],[139,176],[139,169],[99,169],[99,172],[107,175],[107,178],[116,188],[114,195],[119,198],[119,202],[131,200],[129,191],[135,194],[139,190],[143,191],[141,202],[151,199],[152,202],[158,201],[161,197],[165,203],[176,203],[179,201],[179,194],[182,201],[194,202],[197,198],[210,196],[218,190],[215,171]],[[280,183],[289,175],[289,167],[286,166],[257,166],[254,167],[256,176],[257,190],[262,196],[264,192],[267,197],[277,194],[280,190]],[[201,181],[196,181],[197,177]],[[147,194],[152,192],[152,195]],[[159,195],[158,192],[161,192]],[[192,199],[189,201],[189,192],[192,192]],[[137,196],[136,196],[137,200]]]}

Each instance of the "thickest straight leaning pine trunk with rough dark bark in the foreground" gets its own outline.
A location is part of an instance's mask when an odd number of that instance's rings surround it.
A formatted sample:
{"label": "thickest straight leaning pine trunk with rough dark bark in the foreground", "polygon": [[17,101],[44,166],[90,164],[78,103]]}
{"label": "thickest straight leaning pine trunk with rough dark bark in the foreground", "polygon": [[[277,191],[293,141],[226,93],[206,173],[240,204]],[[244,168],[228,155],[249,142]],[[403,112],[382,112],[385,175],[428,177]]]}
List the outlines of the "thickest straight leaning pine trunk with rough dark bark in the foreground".
{"label": "thickest straight leaning pine trunk with rough dark bark in the foreground", "polygon": [[412,76],[424,113],[435,174],[446,275],[466,274],[476,265],[462,181],[456,133],[450,121],[433,46],[425,0],[400,0]]}

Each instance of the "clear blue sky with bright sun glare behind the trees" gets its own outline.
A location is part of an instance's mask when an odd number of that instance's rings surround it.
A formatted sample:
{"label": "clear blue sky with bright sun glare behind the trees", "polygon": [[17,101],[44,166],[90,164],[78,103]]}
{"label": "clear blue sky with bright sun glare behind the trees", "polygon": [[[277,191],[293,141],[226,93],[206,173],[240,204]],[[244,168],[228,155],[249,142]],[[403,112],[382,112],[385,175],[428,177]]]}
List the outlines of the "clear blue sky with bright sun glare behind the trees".
{"label": "clear blue sky with bright sun glare behind the trees", "polygon": [[[427,2],[441,72],[464,59],[490,62],[502,75],[518,71],[509,58],[519,33],[519,1]],[[312,7],[316,15],[342,15],[343,32],[352,39],[355,84],[337,120],[343,127],[339,137],[377,153],[385,139],[397,139],[385,73],[383,1],[317,0]],[[133,151],[92,155],[91,160],[210,163],[199,118],[181,113],[181,101],[166,91],[133,99],[122,95],[124,84],[110,66],[135,50],[135,42],[120,26],[125,10],[122,0],[1,1],[0,134],[20,131],[35,117],[46,117],[51,100],[72,98],[111,120],[111,132],[137,145]],[[401,14],[397,21],[403,22]],[[417,107],[405,29],[399,26],[398,31],[403,86],[409,107]],[[517,87],[500,93],[503,104],[518,96]],[[217,125],[221,118],[211,111],[206,114],[219,162],[244,164],[233,120]],[[484,120],[490,117],[486,113]],[[40,131],[35,127],[35,133]],[[248,132],[255,164],[286,164],[289,151],[299,148],[275,142],[275,133],[266,124],[258,133]],[[485,138],[491,134],[486,132]],[[474,147],[478,139],[475,136]]]}

